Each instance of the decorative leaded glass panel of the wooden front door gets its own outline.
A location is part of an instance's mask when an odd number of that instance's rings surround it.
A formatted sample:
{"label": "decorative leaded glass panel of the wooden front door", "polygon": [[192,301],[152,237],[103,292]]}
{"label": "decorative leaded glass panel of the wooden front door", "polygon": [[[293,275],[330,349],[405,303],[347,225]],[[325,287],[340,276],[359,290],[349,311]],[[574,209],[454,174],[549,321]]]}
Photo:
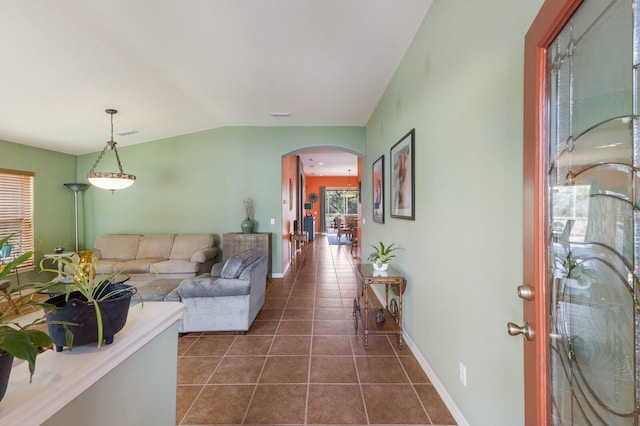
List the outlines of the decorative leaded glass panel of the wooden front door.
{"label": "decorative leaded glass panel of the wooden front door", "polygon": [[585,1],[548,49],[554,424],[640,424],[636,1]]}

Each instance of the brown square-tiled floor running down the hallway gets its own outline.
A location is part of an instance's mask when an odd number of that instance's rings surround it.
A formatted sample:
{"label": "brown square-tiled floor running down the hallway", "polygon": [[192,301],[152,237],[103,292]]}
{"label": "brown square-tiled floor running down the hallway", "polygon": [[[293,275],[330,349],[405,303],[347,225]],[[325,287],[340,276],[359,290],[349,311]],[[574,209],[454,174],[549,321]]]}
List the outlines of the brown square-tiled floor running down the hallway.
{"label": "brown square-tiled floor running down the hallway", "polygon": [[180,337],[176,424],[454,425],[406,345],[377,335],[364,350],[350,246],[307,247],[247,335]]}

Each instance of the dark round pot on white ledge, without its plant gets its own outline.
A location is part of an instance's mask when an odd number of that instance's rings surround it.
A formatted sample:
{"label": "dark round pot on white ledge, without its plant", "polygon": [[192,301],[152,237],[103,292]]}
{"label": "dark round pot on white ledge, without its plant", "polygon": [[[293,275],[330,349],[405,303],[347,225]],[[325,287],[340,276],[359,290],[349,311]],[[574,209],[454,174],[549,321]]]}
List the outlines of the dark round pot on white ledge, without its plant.
{"label": "dark round pot on white ledge, without its plant", "polygon": [[[103,294],[112,291],[126,289],[113,297],[98,302],[102,315],[102,330],[104,343],[113,343],[113,336],[122,330],[129,315],[131,297],[138,291],[134,286],[127,284],[107,284]],[[73,334],[73,346],[86,345],[98,341],[98,325],[96,310],[92,302],[79,291],[73,291],[67,300],[66,294],[60,294],[48,299],[45,303],[55,306],[55,309],[45,308],[47,315],[47,327],[49,336],[53,340],[56,352],[62,351],[67,346],[67,329]],[[51,321],[51,322],[50,322]],[[52,322],[55,322],[52,323]],[[67,324],[65,325],[61,324]],[[69,325],[73,324],[73,325]]]}

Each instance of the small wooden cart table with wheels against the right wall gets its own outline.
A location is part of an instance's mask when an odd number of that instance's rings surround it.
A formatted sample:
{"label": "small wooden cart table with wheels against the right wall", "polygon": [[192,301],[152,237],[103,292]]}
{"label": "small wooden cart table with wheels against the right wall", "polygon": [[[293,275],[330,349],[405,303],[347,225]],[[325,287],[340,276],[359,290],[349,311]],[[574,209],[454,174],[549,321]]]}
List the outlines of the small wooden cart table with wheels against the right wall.
{"label": "small wooden cart table with wheels against the right wall", "polygon": [[[362,328],[364,329],[364,348],[369,350],[369,334],[397,334],[398,347],[402,350],[402,294],[404,293],[407,280],[402,274],[389,267],[386,271],[376,271],[371,264],[356,264],[355,270],[358,286],[356,298],[353,299],[353,318],[356,332],[358,331],[358,319],[362,318]],[[372,284],[382,284],[385,286],[385,306],[383,313],[385,321],[376,322],[376,315],[379,308],[374,308],[369,303],[368,287]],[[394,287],[396,286],[396,287]],[[390,309],[389,288],[393,288],[398,295],[397,309]],[[364,302],[360,305],[360,299]],[[395,305],[394,305],[395,306]],[[364,315],[363,315],[364,311]]]}

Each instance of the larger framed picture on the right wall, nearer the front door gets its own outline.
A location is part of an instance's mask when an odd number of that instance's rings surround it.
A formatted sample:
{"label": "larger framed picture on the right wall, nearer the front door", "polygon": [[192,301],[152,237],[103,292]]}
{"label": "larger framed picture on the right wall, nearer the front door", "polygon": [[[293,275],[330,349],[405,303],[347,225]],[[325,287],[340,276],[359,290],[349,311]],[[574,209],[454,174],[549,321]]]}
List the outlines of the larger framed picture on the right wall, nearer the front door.
{"label": "larger framed picture on the right wall, nearer the front door", "polygon": [[411,129],[391,147],[391,217],[415,220],[415,138]]}

